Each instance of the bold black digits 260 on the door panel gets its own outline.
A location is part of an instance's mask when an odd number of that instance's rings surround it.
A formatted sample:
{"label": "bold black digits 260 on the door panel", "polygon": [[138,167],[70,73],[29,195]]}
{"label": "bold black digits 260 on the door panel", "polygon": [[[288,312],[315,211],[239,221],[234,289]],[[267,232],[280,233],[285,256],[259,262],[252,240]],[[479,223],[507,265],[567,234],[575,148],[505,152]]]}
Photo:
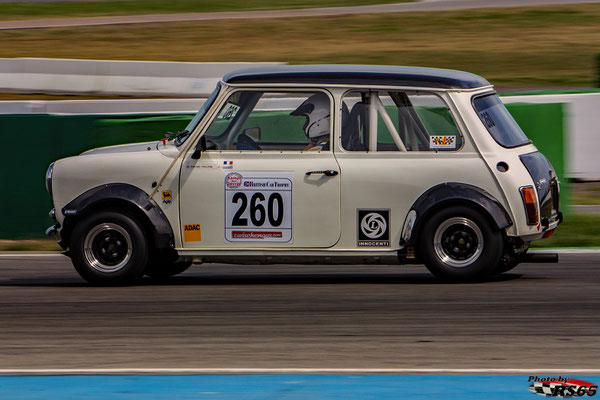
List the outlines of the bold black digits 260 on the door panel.
{"label": "bold black digits 260 on the door panel", "polygon": [[[266,209],[264,206],[265,200],[267,201]],[[248,208],[246,193],[235,193],[231,201],[239,204],[231,225],[248,226],[248,218],[243,217],[246,208]],[[283,222],[283,197],[281,197],[281,194],[275,192],[271,193],[269,198],[266,199],[264,194],[256,192],[250,198],[250,221],[254,226],[263,226],[267,218],[271,226],[277,227],[281,225]]]}

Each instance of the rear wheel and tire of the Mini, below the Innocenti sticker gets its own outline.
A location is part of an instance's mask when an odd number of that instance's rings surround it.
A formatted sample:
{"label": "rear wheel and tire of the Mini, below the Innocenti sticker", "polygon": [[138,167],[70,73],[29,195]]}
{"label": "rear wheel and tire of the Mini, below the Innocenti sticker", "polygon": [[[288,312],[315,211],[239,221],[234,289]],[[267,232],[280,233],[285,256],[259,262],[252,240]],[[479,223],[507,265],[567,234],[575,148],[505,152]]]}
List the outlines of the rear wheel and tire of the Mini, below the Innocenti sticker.
{"label": "rear wheel and tire of the Mini, below the Innocenti sticker", "polygon": [[445,280],[481,279],[502,256],[502,234],[480,212],[451,206],[432,215],[423,227],[419,256],[427,269]]}

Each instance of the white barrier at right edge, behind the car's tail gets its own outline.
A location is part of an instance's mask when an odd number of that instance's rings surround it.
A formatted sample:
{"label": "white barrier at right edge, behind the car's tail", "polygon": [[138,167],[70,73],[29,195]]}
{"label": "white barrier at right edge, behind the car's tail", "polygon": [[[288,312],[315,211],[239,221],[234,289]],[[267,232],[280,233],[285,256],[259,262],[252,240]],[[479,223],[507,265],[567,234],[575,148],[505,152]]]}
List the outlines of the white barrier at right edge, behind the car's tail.
{"label": "white barrier at right edge, behind the car's tail", "polygon": [[565,104],[567,176],[600,180],[600,93],[506,96],[502,101]]}

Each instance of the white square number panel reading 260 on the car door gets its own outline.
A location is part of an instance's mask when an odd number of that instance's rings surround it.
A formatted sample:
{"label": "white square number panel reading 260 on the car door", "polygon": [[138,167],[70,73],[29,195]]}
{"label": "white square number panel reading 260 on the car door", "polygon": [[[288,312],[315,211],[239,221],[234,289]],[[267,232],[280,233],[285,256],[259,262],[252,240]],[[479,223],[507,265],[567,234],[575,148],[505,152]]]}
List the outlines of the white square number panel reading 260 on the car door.
{"label": "white square number panel reading 260 on the car door", "polygon": [[225,175],[225,241],[292,241],[293,172]]}

